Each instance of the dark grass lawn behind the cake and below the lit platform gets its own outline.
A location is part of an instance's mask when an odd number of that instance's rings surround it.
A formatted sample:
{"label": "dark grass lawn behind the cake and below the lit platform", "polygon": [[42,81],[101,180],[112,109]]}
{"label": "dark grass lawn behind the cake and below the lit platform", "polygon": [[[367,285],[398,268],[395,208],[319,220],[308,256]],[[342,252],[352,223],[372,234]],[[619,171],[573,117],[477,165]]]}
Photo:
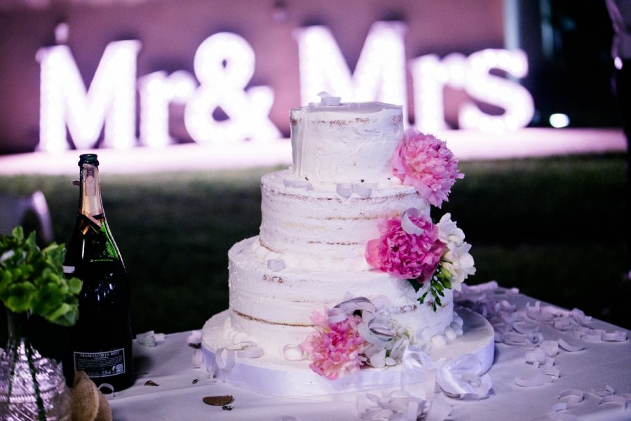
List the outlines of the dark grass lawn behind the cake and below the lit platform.
{"label": "dark grass lawn behind the cake and below the lit platform", "polygon": [[[625,264],[622,154],[466,161],[435,216],[451,212],[473,244],[477,274],[562,307],[631,328]],[[130,274],[133,324],[201,328],[228,307],[227,252],[258,233],[259,178],[276,168],[101,174],[104,208]],[[0,192],[46,194],[55,239],[74,225],[72,177],[0,176]],[[1,315],[4,317],[4,314]],[[0,341],[4,340],[0,329]],[[0,342],[4,343],[4,342]]]}

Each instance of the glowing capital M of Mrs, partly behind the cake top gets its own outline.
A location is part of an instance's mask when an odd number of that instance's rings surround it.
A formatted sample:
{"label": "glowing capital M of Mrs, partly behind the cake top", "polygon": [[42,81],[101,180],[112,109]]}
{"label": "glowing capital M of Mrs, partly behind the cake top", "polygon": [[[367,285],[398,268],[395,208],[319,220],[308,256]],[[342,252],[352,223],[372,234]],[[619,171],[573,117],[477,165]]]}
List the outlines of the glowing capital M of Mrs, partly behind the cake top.
{"label": "glowing capital M of Mrs, partly behind the cake top", "polygon": [[311,26],[294,31],[298,43],[301,101],[330,92],[345,102],[381,101],[404,105],[407,118],[405,44],[402,22],[375,22],[351,74],[330,29]]}

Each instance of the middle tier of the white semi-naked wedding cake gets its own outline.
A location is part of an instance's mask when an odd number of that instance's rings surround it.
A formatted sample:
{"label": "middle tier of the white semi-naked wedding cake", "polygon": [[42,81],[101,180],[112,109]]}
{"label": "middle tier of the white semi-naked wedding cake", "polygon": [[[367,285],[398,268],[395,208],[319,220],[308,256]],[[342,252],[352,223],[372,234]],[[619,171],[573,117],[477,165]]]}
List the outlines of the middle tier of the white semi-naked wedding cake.
{"label": "middle tier of the white semi-naked wedding cake", "polygon": [[366,243],[379,238],[379,218],[400,216],[409,208],[429,214],[428,202],[414,187],[388,182],[369,197],[346,198],[332,184],[312,190],[287,187],[284,180],[292,177],[287,170],[263,176],[260,245],[266,249],[255,251],[262,258],[273,251],[277,254],[266,259],[280,255],[287,267],[369,269]]}

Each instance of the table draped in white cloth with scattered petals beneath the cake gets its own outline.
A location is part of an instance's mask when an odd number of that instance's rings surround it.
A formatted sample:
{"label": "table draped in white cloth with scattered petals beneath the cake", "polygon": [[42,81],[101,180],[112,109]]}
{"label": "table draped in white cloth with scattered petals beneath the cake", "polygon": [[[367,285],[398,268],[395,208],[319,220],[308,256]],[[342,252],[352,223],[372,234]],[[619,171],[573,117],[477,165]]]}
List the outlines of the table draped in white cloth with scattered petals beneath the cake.
{"label": "table draped in white cloth with scattered petals beneath the cake", "polygon": [[[465,288],[459,300],[486,313],[499,341],[489,370],[490,396],[478,401],[447,399],[452,406],[449,420],[631,420],[630,331],[590,320],[577,310],[538,303],[495,283]],[[212,379],[203,368],[194,368],[198,351],[187,345],[190,334],[165,335],[156,347],[135,341],[137,380],[133,387],[108,397],[114,420],[360,419],[354,399],[270,396]],[[542,349],[554,356],[544,356]],[[148,380],[158,386],[145,385]],[[537,381],[544,384],[518,384]],[[202,401],[204,396],[225,394],[234,396],[231,410]]]}

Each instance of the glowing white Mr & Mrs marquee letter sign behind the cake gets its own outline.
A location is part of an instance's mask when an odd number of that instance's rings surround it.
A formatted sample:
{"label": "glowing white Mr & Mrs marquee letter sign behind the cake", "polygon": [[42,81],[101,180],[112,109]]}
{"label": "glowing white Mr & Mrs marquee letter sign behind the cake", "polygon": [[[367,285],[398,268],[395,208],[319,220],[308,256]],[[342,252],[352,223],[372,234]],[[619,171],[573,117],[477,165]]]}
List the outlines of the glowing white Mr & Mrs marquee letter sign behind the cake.
{"label": "glowing white Mr & Mrs marquee letter sign behind the cake", "polygon": [[[303,104],[327,91],[346,102],[382,101],[403,104],[407,86],[402,22],[375,22],[369,30],[355,71],[346,65],[330,29],[297,29],[300,89]],[[68,149],[69,133],[76,149],[135,145],[136,62],[140,41],[111,42],[89,88],[83,84],[68,46],[41,48],[40,143],[48,151]],[[280,131],[270,121],[274,94],[269,86],[247,88],[255,72],[255,52],[243,37],[230,32],[209,36],[194,56],[194,74],[183,70],[154,72],[139,78],[140,143],[165,146],[174,142],[168,130],[169,105],[184,105],[184,125],[195,142],[225,144],[236,140],[271,140]],[[473,101],[459,107],[459,126],[482,131],[527,126],[534,114],[530,93],[519,83],[491,74],[499,69],[514,78],[528,72],[522,51],[483,50],[438,58],[423,55],[409,62],[416,128],[447,128],[445,86],[463,89],[470,98],[503,109],[485,114]]]}

